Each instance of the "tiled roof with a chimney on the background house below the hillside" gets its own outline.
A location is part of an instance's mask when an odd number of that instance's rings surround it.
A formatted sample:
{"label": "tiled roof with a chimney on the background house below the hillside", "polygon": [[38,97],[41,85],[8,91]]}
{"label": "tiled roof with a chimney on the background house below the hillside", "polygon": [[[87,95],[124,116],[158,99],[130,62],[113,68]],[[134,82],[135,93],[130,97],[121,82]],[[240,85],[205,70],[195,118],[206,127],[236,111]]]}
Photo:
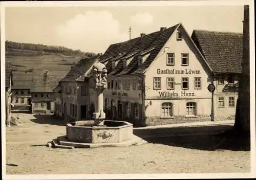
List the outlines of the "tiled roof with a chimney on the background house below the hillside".
{"label": "tiled roof with a chimney on the background house below the hillside", "polygon": [[62,75],[33,74],[30,92],[52,93],[61,78]]}

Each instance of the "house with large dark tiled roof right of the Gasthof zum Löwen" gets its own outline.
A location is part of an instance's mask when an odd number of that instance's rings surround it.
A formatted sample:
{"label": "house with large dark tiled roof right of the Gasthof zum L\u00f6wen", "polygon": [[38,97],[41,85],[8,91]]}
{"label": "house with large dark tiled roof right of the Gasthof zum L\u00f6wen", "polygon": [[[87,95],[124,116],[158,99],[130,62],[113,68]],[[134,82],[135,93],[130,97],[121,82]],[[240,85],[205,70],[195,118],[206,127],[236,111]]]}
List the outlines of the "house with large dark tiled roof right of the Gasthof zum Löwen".
{"label": "house with large dark tiled roof right of the Gasthof zum L\u00f6wen", "polygon": [[191,37],[212,71],[216,86],[214,119],[234,119],[242,73],[243,34],[194,30]]}

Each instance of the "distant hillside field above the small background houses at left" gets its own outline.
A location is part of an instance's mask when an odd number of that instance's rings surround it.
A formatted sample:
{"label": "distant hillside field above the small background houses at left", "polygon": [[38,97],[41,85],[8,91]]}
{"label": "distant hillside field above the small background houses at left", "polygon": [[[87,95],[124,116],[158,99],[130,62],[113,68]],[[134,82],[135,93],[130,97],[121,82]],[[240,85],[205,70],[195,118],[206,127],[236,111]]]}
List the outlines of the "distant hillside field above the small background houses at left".
{"label": "distant hillside field above the small background houses at left", "polygon": [[22,54],[20,51],[16,51],[15,53],[14,55],[13,52],[6,52],[6,61],[14,64],[13,71],[23,72],[33,68],[37,73],[48,70],[50,74],[67,74],[71,66],[81,59],[81,56],[35,55],[35,52]]}

